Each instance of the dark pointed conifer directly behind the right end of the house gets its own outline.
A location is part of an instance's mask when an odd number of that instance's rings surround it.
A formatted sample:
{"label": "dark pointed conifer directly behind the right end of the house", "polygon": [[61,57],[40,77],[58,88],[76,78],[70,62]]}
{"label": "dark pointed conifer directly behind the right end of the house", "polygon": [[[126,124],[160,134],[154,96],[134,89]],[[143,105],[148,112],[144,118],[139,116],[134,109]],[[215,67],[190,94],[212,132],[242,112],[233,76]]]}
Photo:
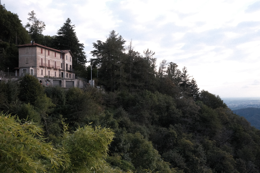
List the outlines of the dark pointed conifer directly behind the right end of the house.
{"label": "dark pointed conifer directly behind the right end of the house", "polygon": [[79,66],[84,66],[87,62],[87,57],[83,51],[84,44],[80,43],[76,36],[75,25],[71,25],[71,20],[68,18],[63,26],[58,30],[57,36],[53,39],[53,48],[59,50],[71,50],[73,54],[73,64],[75,70]]}

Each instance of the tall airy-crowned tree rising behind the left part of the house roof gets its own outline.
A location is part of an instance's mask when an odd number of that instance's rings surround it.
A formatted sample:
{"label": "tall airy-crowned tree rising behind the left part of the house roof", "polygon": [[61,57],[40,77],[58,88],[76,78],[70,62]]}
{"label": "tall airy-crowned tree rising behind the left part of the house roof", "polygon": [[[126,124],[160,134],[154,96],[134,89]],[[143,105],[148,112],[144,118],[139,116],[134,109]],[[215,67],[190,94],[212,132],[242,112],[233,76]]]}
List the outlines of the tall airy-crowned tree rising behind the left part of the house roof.
{"label": "tall airy-crowned tree rising behind the left part of the house roof", "polygon": [[45,24],[43,21],[36,18],[36,13],[31,11],[28,13],[29,22],[25,25],[29,29],[29,34],[35,43],[42,44],[43,34],[42,31],[45,30]]}

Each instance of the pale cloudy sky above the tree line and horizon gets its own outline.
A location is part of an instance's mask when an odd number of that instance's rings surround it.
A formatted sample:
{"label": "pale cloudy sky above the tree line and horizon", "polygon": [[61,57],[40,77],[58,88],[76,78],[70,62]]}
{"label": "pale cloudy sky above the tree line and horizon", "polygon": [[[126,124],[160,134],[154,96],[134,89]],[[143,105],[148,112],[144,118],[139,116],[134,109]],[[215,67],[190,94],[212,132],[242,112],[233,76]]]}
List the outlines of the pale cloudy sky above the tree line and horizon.
{"label": "pale cloudy sky above the tree line and horizon", "polygon": [[53,36],[70,18],[87,60],[93,42],[115,30],[157,64],[174,62],[220,97],[260,97],[260,1],[1,0],[22,24],[34,10]]}

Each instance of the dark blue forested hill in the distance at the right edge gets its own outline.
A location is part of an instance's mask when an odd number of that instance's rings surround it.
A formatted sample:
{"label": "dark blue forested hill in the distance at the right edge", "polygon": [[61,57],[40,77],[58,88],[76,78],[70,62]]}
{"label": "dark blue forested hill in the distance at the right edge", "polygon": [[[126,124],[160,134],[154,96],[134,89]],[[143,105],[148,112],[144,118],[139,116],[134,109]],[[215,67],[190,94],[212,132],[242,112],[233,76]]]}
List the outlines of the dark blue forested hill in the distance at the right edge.
{"label": "dark blue forested hill in the distance at the right edge", "polygon": [[233,110],[233,113],[245,117],[252,126],[260,130],[260,108],[244,108]]}

